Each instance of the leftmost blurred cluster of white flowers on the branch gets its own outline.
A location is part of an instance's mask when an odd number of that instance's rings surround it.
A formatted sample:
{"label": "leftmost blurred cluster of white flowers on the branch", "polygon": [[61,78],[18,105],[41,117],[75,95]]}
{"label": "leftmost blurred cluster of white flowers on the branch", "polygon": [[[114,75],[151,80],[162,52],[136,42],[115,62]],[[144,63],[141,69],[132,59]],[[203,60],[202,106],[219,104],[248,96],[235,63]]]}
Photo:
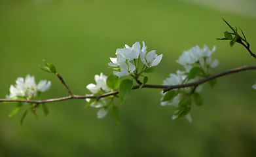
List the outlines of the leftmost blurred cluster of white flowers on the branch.
{"label": "leftmost blurred cluster of white flowers on the branch", "polygon": [[39,84],[35,83],[35,77],[27,75],[26,78],[18,77],[15,86],[10,85],[10,95],[7,99],[24,97],[26,99],[33,99],[38,92],[45,92],[51,86],[50,81],[40,80]]}

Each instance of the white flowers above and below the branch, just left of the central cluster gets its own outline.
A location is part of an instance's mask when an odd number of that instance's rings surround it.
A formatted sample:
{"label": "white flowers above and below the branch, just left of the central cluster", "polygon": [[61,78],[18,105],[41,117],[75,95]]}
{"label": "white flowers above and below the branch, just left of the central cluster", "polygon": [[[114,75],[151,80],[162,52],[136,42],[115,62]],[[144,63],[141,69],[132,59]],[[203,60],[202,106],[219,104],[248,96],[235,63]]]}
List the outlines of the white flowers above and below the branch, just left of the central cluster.
{"label": "white flowers above and below the branch, just left of the central cluster", "polygon": [[[95,75],[94,80],[96,84],[88,84],[86,88],[92,92],[92,94],[100,94],[100,92],[110,92],[110,88],[107,86],[106,80],[107,76],[103,75],[103,73],[100,73],[100,75]],[[92,95],[87,95],[92,96]],[[90,101],[90,99],[86,99],[87,102]],[[94,101],[90,104],[91,107],[101,108],[97,116],[98,118],[103,118],[107,115],[108,111],[104,107],[106,107],[109,104],[109,98],[108,97],[102,97],[101,99],[98,99],[97,101]]]}

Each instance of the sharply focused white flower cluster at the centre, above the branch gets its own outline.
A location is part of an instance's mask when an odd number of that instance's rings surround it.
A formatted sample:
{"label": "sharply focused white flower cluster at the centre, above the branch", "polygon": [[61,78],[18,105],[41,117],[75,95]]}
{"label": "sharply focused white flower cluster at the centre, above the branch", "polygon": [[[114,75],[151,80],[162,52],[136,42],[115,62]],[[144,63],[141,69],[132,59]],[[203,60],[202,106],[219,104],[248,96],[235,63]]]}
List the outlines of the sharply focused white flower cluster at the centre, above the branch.
{"label": "sharply focused white flower cluster at the centre, above the branch", "polygon": [[125,44],[124,48],[118,48],[116,53],[117,58],[110,58],[112,62],[109,63],[111,67],[120,67],[120,71],[113,71],[115,75],[119,78],[133,74],[136,70],[136,65],[132,64],[132,60],[136,60],[139,57],[144,65],[147,67],[154,67],[160,63],[162,60],[162,54],[159,56],[156,54],[155,50],[147,52],[147,46],[145,46],[144,41],[143,47],[137,41],[132,47]]}

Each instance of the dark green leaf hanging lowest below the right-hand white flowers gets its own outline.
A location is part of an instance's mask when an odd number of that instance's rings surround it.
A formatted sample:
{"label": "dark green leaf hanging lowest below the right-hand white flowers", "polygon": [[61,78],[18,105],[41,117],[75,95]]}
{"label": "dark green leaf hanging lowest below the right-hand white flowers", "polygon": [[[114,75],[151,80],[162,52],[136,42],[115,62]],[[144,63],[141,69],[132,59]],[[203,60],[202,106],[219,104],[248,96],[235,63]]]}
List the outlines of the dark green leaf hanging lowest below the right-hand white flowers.
{"label": "dark green leaf hanging lowest below the right-hand white flowers", "polygon": [[183,99],[179,101],[179,107],[174,111],[172,119],[177,120],[186,116],[191,110],[191,103],[192,99],[190,96],[183,97]]}

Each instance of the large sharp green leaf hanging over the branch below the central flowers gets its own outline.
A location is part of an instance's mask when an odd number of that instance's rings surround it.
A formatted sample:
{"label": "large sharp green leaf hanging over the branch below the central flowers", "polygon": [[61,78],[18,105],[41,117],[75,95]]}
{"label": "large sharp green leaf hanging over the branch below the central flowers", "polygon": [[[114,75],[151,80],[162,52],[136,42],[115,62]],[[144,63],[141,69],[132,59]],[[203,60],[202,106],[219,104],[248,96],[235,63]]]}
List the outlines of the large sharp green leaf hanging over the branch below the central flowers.
{"label": "large sharp green leaf hanging over the branch below the central flowers", "polygon": [[119,95],[121,99],[121,104],[132,94],[132,80],[124,79],[120,82]]}

